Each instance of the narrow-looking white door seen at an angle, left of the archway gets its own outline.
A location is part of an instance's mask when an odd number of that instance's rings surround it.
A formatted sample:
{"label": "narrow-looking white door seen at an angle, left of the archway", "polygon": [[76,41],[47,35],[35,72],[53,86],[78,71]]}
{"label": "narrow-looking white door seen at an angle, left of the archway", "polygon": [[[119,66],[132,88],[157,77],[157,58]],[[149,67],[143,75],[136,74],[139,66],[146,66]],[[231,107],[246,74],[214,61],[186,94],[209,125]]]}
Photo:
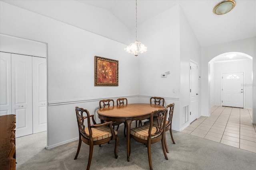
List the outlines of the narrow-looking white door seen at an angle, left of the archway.
{"label": "narrow-looking white door seen at an angle, left of the archway", "polygon": [[191,123],[198,117],[198,65],[190,61],[190,115]]}

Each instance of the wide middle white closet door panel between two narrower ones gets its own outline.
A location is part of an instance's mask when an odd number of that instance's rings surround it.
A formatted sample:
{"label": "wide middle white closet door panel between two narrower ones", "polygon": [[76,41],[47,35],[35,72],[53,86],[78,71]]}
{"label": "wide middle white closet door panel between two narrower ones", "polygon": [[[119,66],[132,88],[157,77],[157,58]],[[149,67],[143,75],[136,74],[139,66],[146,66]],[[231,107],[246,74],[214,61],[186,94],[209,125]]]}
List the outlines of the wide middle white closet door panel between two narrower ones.
{"label": "wide middle white closet door panel between two narrower ones", "polygon": [[12,113],[16,115],[16,137],[33,133],[32,57],[12,54]]}

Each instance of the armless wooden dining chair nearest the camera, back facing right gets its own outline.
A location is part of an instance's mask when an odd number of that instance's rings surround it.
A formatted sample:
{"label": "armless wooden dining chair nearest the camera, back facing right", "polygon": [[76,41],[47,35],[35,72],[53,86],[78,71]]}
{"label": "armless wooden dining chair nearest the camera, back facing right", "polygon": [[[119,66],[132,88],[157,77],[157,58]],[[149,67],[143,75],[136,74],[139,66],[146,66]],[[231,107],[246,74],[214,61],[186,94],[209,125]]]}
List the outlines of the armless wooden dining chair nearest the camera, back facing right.
{"label": "armless wooden dining chair nearest the camera, back facing right", "polygon": [[[135,127],[130,131],[130,138],[135,139],[140,143],[144,143],[148,149],[148,162],[150,166],[150,170],[152,170],[152,160],[151,160],[151,144],[157,143],[161,141],[162,149],[164,152],[164,156],[166,160],[168,160],[165,148],[165,126],[166,126],[166,116],[167,116],[167,109],[159,109],[156,111],[152,111],[150,114],[150,124],[146,124],[143,126]],[[157,120],[156,123],[153,123],[153,117]],[[131,143],[130,143],[130,150],[131,153]]]}

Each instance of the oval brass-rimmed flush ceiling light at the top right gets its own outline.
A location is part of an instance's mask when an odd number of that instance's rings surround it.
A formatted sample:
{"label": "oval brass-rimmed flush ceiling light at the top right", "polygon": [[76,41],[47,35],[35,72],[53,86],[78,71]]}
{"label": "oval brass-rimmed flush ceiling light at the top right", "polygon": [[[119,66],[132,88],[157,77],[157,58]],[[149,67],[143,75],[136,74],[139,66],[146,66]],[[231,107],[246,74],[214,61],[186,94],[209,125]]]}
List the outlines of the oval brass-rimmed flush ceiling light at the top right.
{"label": "oval brass-rimmed flush ceiling light at the top right", "polygon": [[219,2],[213,8],[213,13],[217,15],[222,15],[230,12],[236,6],[236,2],[234,0],[224,0]]}

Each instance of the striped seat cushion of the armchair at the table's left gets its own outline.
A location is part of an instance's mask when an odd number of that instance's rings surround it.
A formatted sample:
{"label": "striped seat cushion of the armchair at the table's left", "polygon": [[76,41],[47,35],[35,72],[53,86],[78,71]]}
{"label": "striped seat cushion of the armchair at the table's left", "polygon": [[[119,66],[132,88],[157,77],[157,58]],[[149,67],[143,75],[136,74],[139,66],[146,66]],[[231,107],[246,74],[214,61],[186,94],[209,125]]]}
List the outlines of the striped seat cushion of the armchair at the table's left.
{"label": "striped seat cushion of the armchair at the table's left", "polygon": [[[108,137],[112,137],[112,133],[110,130],[110,127],[108,126],[103,126],[103,127],[98,127],[98,128],[91,128],[92,129],[92,138],[93,141],[99,141],[102,139],[106,139]],[[114,130],[114,129],[113,129]],[[84,129],[84,131],[89,134],[88,127]],[[117,131],[114,130],[115,134],[117,135]],[[89,139],[88,136],[85,136],[87,139]]]}

